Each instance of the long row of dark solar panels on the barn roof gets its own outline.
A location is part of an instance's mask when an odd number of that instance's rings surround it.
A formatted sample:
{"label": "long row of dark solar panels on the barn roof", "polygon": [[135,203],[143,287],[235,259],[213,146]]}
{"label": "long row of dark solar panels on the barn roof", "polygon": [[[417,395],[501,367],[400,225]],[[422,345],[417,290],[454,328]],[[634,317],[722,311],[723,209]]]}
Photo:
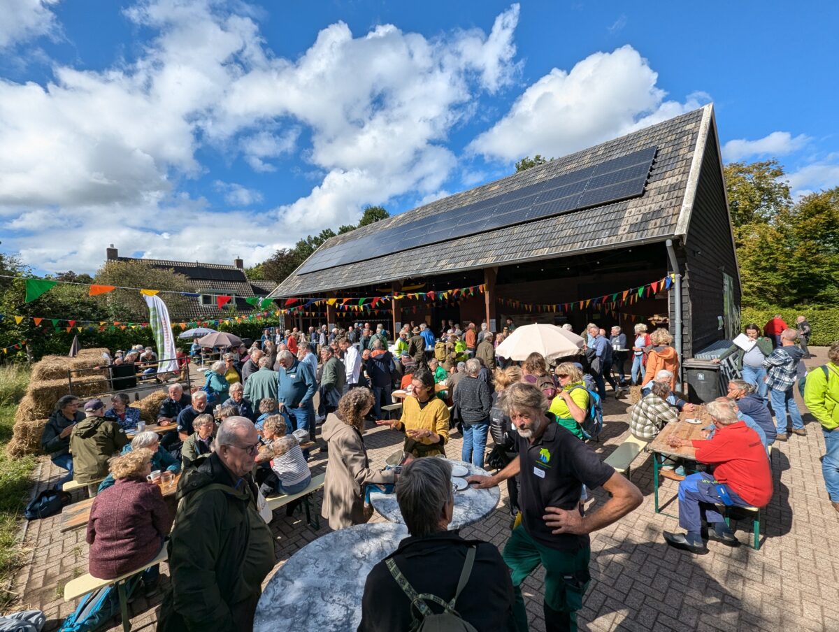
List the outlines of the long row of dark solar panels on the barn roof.
{"label": "long row of dark solar panels on the barn roof", "polygon": [[644,194],[658,147],[571,171],[457,209],[348,239],[315,252],[299,274],[467,237],[479,232],[628,200]]}

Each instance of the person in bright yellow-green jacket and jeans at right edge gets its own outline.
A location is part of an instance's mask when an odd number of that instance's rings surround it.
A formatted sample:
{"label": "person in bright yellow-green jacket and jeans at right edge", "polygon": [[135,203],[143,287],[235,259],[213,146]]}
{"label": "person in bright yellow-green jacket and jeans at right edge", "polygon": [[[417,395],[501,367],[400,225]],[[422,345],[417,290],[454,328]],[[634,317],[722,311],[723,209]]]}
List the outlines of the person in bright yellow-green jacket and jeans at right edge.
{"label": "person in bright yellow-green jacket and jeans at right edge", "polygon": [[821,424],[825,437],[825,457],[821,475],[833,509],[839,512],[839,342],[827,351],[828,363],[807,375],[804,403]]}

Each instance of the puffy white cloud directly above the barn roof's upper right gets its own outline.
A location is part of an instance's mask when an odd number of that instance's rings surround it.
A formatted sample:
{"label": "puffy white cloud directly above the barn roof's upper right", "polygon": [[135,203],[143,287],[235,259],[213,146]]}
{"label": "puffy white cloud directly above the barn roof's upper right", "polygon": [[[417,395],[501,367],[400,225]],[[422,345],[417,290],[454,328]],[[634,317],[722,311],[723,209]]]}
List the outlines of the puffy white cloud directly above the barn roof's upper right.
{"label": "puffy white cloud directly above the barn roof's upper right", "polygon": [[632,46],[594,53],[571,71],[554,68],[529,86],[470,149],[507,161],[571,154],[688,112],[706,98],[696,93],[684,103],[665,101],[657,80],[658,74]]}

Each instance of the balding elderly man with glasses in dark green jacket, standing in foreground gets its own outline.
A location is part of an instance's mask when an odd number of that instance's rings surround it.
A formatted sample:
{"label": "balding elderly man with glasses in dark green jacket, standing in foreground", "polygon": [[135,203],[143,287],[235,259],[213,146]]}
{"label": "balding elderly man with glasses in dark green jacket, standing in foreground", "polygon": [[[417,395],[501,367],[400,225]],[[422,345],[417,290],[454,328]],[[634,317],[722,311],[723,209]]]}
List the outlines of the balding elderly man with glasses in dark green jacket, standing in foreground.
{"label": "balding elderly man with glasses in dark green jacket, standing in foreground", "polygon": [[171,588],[158,630],[250,630],[262,582],[274,568],[274,538],[253,482],[259,436],[244,417],[218,429],[216,452],[183,474],[169,538]]}

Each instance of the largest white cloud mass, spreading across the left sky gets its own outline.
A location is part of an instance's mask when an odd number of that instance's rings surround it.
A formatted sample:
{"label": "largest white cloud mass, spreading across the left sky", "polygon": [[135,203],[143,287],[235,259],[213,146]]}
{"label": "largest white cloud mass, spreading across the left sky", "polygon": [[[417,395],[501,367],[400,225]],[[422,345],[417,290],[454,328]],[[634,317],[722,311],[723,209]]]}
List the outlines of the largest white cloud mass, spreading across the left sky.
{"label": "largest white cloud mass, spreading across the left sky", "polygon": [[[433,196],[456,165],[451,128],[517,69],[517,4],[488,35],[429,39],[389,24],[354,35],[331,24],[294,60],[268,50],[242,3],[141,0],[124,14],[156,33],[136,60],[56,65],[45,85],[0,79],[3,247],[41,269],[91,271],[107,243],[256,263],[311,230],[353,222],[366,204]],[[300,148],[304,132],[310,145]],[[258,172],[299,151],[320,182],[273,211],[211,212],[180,187],[206,173],[207,151]],[[261,201],[217,186],[233,206]],[[208,250],[211,234],[224,238]]]}

